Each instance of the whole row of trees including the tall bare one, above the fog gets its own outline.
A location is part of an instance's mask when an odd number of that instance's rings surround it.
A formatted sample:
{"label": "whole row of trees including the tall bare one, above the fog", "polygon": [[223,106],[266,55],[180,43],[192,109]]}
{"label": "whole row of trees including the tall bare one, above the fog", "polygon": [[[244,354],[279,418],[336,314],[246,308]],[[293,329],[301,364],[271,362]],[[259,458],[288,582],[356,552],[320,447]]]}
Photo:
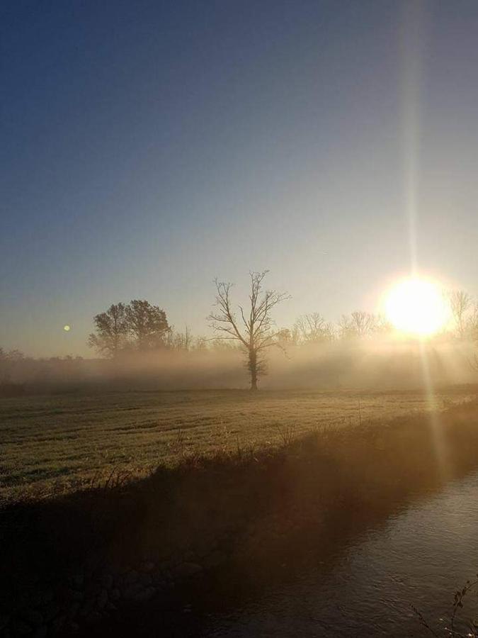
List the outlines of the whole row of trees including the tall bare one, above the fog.
{"label": "whole row of trees including the tall bare one, above the fog", "polygon": [[[249,300],[246,306],[232,301],[233,284],[215,280],[215,308],[207,317],[215,336],[193,337],[188,327],[176,332],[169,325],[164,310],[148,301],[135,299],[130,303],[115,303],[103,313],[95,315],[95,332],[89,335],[89,346],[104,357],[115,358],[130,351],[151,352],[158,349],[239,349],[246,357],[251,389],[266,374],[267,352],[273,347],[286,350],[288,346],[331,343],[384,334],[391,325],[380,315],[356,310],[342,315],[335,325],[319,313],[301,315],[292,328],[278,329],[273,310],[290,299],[290,295],[267,289],[264,285],[268,271],[249,274]],[[478,335],[478,306],[463,291],[450,293],[454,336],[475,339]]]}

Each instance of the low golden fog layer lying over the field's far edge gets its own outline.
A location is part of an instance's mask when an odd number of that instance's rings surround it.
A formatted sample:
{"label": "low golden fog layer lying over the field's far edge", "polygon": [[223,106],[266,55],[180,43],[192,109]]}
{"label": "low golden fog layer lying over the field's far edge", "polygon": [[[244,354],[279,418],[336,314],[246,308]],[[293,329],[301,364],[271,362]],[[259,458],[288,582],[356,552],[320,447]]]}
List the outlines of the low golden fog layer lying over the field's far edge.
{"label": "low golden fog layer lying over the field's far edge", "polygon": [[[55,391],[98,386],[164,389],[247,388],[236,348],[122,354],[108,359],[22,359],[1,362],[4,388]],[[400,341],[388,337],[271,349],[263,389],[416,388],[477,380],[470,342]],[[21,387],[18,387],[21,386]],[[13,390],[14,391],[14,390]]]}

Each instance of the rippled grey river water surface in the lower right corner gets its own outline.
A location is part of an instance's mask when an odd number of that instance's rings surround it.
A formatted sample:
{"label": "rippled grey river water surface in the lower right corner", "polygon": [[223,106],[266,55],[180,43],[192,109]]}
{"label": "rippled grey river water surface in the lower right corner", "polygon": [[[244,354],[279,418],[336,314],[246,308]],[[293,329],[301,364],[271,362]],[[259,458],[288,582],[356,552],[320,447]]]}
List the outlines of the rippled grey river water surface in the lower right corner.
{"label": "rippled grey river water surface in the lower right corner", "polygon": [[[215,637],[394,637],[448,626],[453,593],[478,572],[478,473],[421,498],[385,525],[349,540],[331,564],[260,598],[210,613],[201,631]],[[476,595],[463,617],[478,617]]]}

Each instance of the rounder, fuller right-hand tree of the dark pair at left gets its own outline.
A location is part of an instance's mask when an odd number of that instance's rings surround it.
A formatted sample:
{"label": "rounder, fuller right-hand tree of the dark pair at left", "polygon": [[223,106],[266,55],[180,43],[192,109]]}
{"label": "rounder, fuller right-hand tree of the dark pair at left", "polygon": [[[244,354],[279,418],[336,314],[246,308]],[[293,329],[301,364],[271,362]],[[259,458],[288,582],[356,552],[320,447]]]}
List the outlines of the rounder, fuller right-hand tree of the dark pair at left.
{"label": "rounder, fuller right-hand tree of the dark pair at left", "polygon": [[166,347],[171,334],[166,313],[149,301],[133,299],[126,306],[127,328],[139,350]]}

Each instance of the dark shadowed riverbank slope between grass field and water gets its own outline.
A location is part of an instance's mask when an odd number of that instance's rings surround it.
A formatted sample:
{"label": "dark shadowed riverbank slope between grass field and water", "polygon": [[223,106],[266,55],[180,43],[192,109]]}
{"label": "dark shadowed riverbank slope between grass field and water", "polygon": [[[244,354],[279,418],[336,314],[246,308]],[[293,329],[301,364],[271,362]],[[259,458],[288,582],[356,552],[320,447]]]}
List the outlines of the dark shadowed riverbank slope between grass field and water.
{"label": "dark shadowed riverbank slope between grass field and water", "polygon": [[294,578],[400,503],[464,476],[477,443],[469,403],[297,439],[288,431],[279,448],[185,454],[135,483],[112,474],[101,488],[10,505],[4,634],[130,635],[133,623],[146,635],[161,610],[175,635],[189,600]]}

